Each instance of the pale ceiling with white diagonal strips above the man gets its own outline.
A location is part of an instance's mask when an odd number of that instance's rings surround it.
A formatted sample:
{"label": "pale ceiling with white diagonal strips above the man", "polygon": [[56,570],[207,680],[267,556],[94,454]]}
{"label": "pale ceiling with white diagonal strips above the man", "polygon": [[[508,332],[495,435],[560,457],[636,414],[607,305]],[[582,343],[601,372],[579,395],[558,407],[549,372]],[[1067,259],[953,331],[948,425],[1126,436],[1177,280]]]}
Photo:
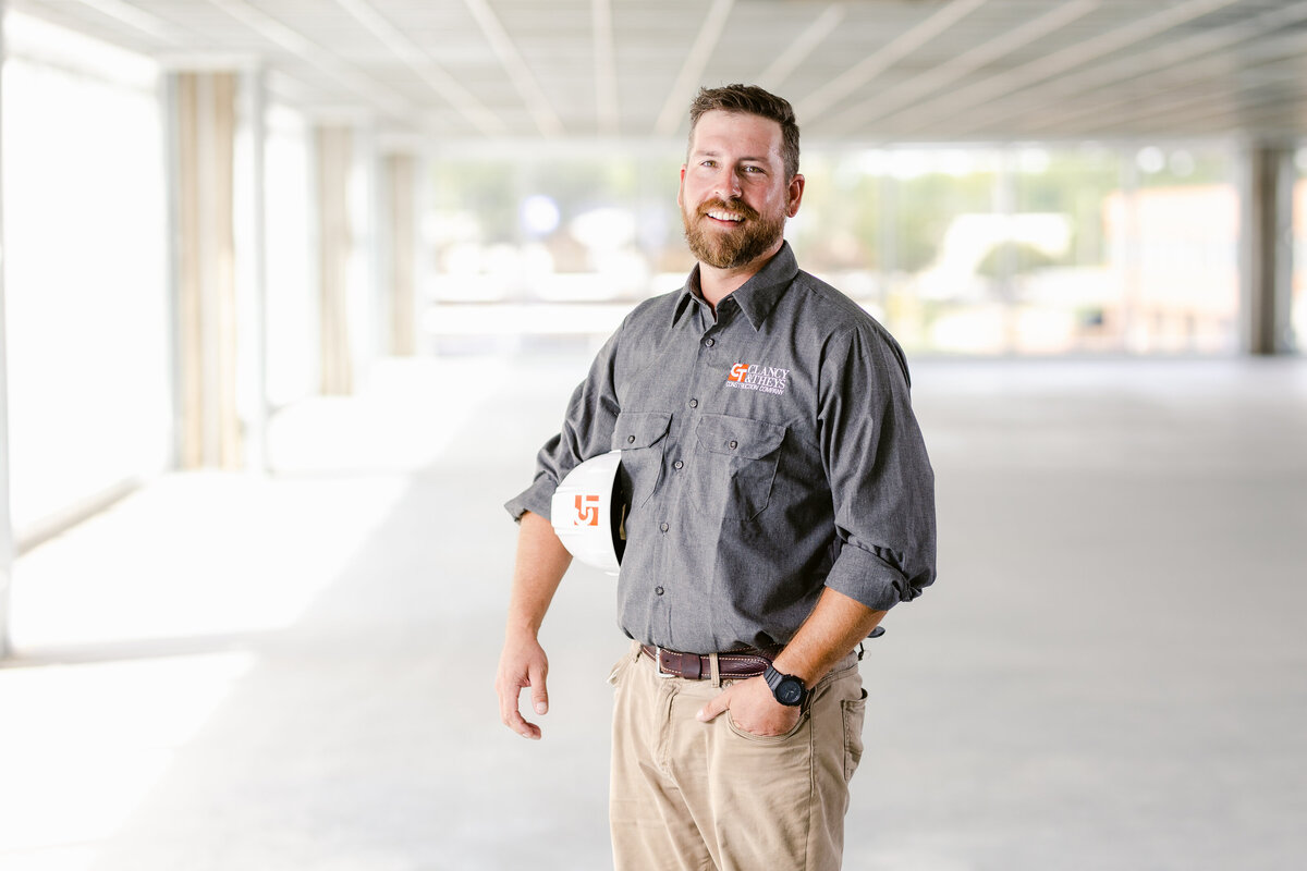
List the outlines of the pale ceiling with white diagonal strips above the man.
{"label": "pale ceiling with white diagonal strips above the man", "polygon": [[868,142],[1307,132],[1307,0],[9,0],[447,140],[680,136],[702,84]]}

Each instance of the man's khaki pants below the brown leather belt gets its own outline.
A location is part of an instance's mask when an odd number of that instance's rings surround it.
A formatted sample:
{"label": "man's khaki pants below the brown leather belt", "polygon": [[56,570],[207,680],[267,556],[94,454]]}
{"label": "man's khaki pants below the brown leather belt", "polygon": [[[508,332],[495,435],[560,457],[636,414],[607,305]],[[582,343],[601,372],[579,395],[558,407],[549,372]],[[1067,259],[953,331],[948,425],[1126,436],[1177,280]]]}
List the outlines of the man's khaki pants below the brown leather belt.
{"label": "man's khaki pants below the brown leather belt", "polygon": [[863,755],[867,693],[856,656],[813,688],[799,725],[775,738],[744,733],[731,712],[695,720],[721,689],[657,676],[639,645],[609,682],[617,871],[839,868],[848,780]]}

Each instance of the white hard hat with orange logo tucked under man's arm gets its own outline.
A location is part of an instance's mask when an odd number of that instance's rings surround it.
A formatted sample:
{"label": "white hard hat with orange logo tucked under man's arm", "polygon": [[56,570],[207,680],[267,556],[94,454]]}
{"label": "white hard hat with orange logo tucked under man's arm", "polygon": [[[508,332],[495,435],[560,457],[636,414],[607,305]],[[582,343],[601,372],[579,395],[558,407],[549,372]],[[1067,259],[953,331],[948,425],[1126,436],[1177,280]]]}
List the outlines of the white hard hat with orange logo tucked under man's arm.
{"label": "white hard hat with orange logo tucked under man's arm", "polygon": [[567,551],[595,568],[617,575],[626,550],[626,496],[618,471],[621,451],[592,457],[558,484],[549,516]]}

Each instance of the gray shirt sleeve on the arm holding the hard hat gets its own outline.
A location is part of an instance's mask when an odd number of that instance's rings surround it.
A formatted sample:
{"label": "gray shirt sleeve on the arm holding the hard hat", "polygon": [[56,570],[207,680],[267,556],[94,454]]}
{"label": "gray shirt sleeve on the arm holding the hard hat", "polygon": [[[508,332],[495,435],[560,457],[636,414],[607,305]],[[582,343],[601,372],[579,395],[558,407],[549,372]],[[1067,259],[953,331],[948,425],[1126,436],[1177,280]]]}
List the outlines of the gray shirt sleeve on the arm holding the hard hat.
{"label": "gray shirt sleeve on the arm holding the hard hat", "polygon": [[586,460],[608,453],[620,410],[613,366],[621,333],[620,328],[609,337],[595,356],[586,380],[572,390],[562,428],[536,454],[536,477],[531,486],[505,503],[514,520],[520,521],[528,511],[548,520],[558,482]]}

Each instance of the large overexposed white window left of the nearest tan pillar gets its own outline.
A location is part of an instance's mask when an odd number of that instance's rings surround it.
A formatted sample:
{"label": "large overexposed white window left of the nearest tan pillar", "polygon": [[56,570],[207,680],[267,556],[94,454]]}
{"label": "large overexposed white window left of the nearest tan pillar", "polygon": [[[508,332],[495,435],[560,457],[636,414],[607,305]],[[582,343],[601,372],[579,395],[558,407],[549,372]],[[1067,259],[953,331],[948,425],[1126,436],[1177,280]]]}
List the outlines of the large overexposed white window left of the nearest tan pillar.
{"label": "large overexposed white window left of the nearest tan pillar", "polygon": [[161,469],[170,350],[153,89],[29,60],[4,71],[13,521]]}

